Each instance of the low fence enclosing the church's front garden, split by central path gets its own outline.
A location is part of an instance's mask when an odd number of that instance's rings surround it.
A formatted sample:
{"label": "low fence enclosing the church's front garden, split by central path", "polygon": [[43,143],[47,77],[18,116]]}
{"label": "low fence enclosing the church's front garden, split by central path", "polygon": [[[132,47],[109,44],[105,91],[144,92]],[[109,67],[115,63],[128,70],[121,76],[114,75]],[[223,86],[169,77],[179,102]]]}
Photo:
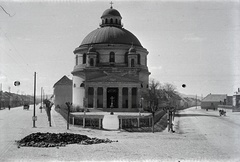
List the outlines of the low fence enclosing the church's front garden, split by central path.
{"label": "low fence enclosing the church's front garden, split by central path", "polygon": [[[67,110],[55,108],[65,120],[67,120]],[[164,115],[165,111],[158,111],[154,115],[154,124],[158,122]],[[69,123],[73,125],[80,125],[83,127],[91,127],[102,129],[102,120],[104,115],[73,115],[70,113]],[[140,128],[152,126],[152,115],[148,116],[122,116],[119,115],[119,128]]]}

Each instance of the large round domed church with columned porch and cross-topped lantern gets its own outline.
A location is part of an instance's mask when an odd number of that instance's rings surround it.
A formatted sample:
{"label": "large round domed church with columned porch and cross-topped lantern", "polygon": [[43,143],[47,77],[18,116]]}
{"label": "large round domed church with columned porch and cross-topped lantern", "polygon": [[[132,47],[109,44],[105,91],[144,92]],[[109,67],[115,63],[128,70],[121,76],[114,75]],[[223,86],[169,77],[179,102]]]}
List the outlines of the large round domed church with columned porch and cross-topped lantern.
{"label": "large round domed church with columned porch and cross-topped lantern", "polygon": [[74,54],[73,106],[139,111],[150,75],[148,51],[123,28],[118,10],[105,10],[100,28],[90,32]]}

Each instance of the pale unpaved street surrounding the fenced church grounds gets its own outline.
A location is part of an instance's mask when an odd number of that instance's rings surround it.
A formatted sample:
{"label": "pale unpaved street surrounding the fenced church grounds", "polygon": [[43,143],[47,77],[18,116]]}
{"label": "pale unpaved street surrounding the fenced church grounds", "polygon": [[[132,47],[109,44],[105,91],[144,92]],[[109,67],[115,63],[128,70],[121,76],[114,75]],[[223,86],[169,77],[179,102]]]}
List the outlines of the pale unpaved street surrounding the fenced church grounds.
{"label": "pale unpaved street surrounding the fenced church grounds", "polygon": [[[190,108],[175,118],[176,133],[129,133],[104,131],[78,126],[66,129],[64,119],[52,110],[52,127],[45,111],[37,108],[37,128],[32,128],[29,111],[15,108],[0,111],[0,161],[239,161],[240,113]],[[72,144],[60,148],[18,148],[20,140],[32,132],[71,132],[118,142],[95,145]]]}

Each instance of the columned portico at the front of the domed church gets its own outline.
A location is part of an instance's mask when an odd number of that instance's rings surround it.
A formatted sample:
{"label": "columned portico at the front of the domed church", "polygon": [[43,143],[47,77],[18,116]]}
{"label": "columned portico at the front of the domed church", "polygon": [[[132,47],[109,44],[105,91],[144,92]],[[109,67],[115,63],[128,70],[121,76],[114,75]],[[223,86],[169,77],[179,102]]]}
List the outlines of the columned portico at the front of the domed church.
{"label": "columned portico at the front of the domed church", "polygon": [[[119,86],[120,85],[120,86]],[[98,83],[86,85],[85,107],[110,111],[138,111],[139,84]]]}

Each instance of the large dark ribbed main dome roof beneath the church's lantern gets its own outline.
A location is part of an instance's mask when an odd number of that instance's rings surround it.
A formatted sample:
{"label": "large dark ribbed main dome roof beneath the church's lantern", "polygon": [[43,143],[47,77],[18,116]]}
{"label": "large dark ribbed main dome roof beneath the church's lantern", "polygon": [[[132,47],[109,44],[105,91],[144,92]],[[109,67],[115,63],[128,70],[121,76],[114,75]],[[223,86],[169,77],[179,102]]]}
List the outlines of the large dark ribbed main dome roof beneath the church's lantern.
{"label": "large dark ribbed main dome roof beneath the church's lantern", "polygon": [[128,44],[142,47],[134,34],[115,26],[105,26],[93,30],[83,39],[80,46],[92,44]]}

